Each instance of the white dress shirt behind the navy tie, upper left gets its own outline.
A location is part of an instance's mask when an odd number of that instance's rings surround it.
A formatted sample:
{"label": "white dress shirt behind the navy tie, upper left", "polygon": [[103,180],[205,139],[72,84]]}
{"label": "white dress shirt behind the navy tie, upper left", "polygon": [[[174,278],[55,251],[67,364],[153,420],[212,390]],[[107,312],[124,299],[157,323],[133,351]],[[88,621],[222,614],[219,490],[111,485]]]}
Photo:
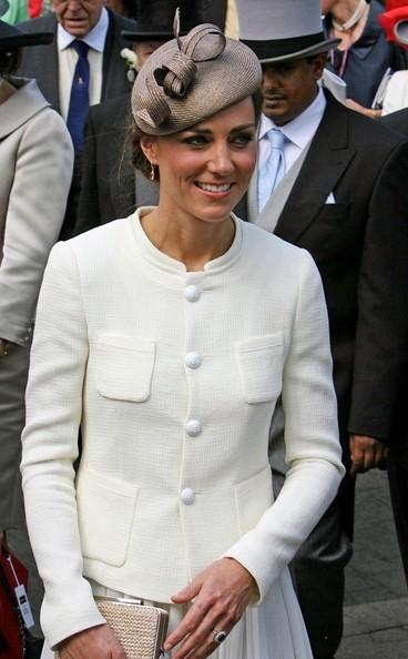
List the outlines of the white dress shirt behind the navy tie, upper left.
{"label": "white dress shirt behind the navy tie, upper left", "polygon": [[[101,102],[102,95],[102,63],[103,50],[109,28],[109,16],[105,8],[102,9],[101,17],[94,28],[83,38],[82,41],[90,47],[88,60],[90,63],[90,105]],[[67,32],[63,27],[58,24],[57,44],[58,44],[58,65],[60,77],[60,110],[64,121],[68,118],[70,107],[72,78],[78,62],[78,53],[70,48],[75,40],[73,34]]]}

